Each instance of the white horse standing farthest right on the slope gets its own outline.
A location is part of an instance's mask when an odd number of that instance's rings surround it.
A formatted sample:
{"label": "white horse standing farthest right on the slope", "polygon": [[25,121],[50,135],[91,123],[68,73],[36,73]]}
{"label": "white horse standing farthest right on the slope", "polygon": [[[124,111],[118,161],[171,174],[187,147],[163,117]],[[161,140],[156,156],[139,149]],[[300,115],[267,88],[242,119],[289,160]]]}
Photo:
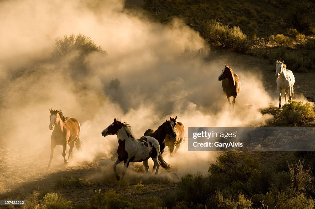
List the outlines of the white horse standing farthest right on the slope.
{"label": "white horse standing farthest right on the slope", "polygon": [[289,100],[292,99],[294,95],[294,75],[292,71],[287,69],[287,65],[283,63],[284,61],[280,62],[278,60],[276,63],[277,88],[279,92],[279,109],[281,108],[281,94],[284,94],[285,103],[287,102],[287,94],[285,93],[285,91],[289,93]]}

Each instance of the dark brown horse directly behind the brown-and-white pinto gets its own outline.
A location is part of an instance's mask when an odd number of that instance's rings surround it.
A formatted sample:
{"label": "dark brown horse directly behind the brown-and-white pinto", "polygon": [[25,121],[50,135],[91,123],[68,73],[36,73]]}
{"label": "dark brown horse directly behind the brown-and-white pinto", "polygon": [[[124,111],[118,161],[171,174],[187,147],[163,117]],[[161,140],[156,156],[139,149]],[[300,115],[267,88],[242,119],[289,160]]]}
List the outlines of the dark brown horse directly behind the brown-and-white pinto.
{"label": "dark brown horse directly behind the brown-and-white pinto", "polygon": [[161,126],[159,126],[157,130],[148,129],[144,133],[144,136],[151,136],[153,138],[156,138],[158,143],[160,144],[160,152],[161,154],[163,154],[166,145],[164,139],[167,134],[170,135],[171,138],[176,138],[173,123],[165,119],[165,122]]}

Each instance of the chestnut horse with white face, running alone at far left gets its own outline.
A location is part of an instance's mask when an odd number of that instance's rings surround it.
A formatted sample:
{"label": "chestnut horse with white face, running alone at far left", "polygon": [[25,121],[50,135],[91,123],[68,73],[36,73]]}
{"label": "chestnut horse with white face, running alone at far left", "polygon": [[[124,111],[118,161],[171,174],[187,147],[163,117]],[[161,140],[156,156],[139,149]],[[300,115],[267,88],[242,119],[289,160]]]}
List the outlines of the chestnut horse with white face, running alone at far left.
{"label": "chestnut horse with white face, running alone at far left", "polygon": [[80,141],[80,123],[77,119],[72,117],[65,117],[62,115],[61,110],[49,110],[49,129],[53,130],[51,134],[51,144],[50,144],[50,159],[48,163],[48,168],[50,167],[51,160],[54,156],[54,151],[56,145],[63,146],[63,160],[64,164],[67,164],[68,161],[66,160],[66,148],[67,144],[70,145],[70,150],[68,154],[69,157],[72,157],[72,149],[74,145],[76,145],[77,150],[81,149],[82,142]]}

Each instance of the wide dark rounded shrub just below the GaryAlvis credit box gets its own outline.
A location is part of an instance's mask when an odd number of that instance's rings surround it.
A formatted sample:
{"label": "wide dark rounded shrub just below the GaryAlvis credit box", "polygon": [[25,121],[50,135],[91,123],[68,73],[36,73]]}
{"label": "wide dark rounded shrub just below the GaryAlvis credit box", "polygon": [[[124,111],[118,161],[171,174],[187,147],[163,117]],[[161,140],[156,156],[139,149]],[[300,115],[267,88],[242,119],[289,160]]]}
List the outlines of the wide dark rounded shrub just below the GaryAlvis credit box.
{"label": "wide dark rounded shrub just below the GaryAlvis credit box", "polygon": [[245,152],[225,152],[217,157],[215,164],[211,163],[208,172],[222,176],[230,181],[247,181],[251,176],[258,174],[261,163],[257,157],[250,157]]}

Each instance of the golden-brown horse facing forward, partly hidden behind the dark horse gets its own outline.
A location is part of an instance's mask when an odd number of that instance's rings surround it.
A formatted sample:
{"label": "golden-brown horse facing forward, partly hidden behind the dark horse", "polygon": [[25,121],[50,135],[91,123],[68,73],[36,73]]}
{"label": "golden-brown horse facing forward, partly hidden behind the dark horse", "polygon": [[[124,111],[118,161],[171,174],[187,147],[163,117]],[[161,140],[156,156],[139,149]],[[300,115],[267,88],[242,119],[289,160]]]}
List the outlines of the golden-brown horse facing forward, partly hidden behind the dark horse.
{"label": "golden-brown horse facing forward, partly hidden behind the dark horse", "polygon": [[169,155],[173,153],[175,146],[176,146],[176,149],[175,149],[175,153],[176,153],[177,150],[180,148],[180,145],[185,142],[185,126],[181,122],[176,121],[176,119],[177,119],[177,116],[175,118],[169,117],[169,121],[172,123],[174,127],[176,137],[172,138],[168,134],[165,137],[165,145],[169,146]]}

